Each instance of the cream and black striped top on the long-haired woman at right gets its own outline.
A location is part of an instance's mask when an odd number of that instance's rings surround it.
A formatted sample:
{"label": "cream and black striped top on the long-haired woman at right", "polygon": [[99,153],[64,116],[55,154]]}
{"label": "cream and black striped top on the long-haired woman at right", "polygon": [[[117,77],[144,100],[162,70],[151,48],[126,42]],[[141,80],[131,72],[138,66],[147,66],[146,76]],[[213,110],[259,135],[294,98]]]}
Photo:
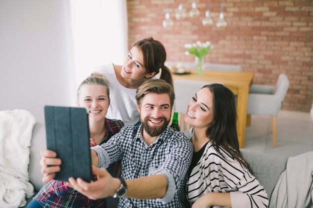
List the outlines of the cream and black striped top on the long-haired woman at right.
{"label": "cream and black striped top on the long-haired woman at right", "polygon": [[267,194],[257,179],[226,151],[220,149],[220,152],[223,157],[215,151],[211,141],[206,144],[187,179],[186,198],[189,204],[207,193],[230,192],[232,208],[266,208]]}

